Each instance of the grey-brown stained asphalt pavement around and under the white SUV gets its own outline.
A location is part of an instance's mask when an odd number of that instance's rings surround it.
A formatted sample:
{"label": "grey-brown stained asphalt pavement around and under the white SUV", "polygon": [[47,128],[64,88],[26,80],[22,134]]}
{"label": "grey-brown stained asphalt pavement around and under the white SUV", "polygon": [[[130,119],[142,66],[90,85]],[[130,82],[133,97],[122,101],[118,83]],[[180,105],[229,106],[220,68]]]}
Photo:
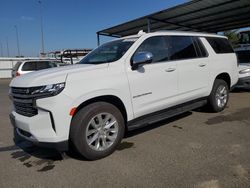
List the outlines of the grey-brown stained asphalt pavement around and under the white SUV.
{"label": "grey-brown stained asphalt pavement around and under the white SUV", "polygon": [[10,80],[0,79],[0,187],[250,187],[250,91],[221,113],[201,110],[130,132],[111,156],[86,161],[13,141]]}

